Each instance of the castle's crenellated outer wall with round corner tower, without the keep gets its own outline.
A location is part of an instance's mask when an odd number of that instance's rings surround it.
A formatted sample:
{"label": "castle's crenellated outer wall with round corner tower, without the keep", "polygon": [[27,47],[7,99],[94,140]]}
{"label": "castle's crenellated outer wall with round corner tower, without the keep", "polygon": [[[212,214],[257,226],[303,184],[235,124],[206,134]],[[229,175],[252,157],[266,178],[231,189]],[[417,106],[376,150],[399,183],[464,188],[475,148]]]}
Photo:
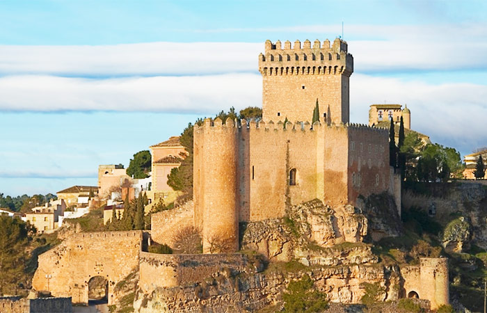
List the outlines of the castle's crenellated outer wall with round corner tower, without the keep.
{"label": "castle's crenellated outer wall with round corner tower, without the keep", "polygon": [[204,238],[230,239],[222,230],[234,234],[237,225],[219,225],[234,217],[282,217],[314,198],[355,204],[358,195],[388,191],[387,147],[388,132],[365,125],[205,120],[194,129],[195,225]]}

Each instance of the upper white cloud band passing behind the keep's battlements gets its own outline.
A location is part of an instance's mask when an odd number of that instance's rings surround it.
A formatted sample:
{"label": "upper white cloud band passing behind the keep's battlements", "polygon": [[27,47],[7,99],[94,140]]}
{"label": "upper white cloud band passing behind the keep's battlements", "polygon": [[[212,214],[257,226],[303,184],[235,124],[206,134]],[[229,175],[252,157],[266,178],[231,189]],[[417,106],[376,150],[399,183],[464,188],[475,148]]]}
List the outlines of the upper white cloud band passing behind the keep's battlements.
{"label": "upper white cloud band passing behind the keep's battlements", "polygon": [[[346,25],[356,72],[487,69],[487,24]],[[205,31],[205,30],[203,30]],[[292,26],[262,31],[295,35],[341,33],[338,25]],[[293,34],[293,38],[289,37]],[[301,41],[306,38],[300,38]],[[308,38],[314,40],[315,38]],[[333,40],[333,38],[330,38]],[[152,42],[100,46],[0,45],[0,74],[50,74],[68,77],[120,77],[257,72],[264,43]]]}

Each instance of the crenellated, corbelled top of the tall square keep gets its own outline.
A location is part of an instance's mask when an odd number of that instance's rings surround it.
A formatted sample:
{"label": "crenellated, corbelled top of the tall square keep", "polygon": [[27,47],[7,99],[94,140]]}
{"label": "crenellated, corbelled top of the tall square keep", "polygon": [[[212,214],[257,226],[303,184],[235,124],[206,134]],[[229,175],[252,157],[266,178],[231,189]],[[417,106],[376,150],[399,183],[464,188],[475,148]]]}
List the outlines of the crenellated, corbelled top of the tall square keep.
{"label": "crenellated, corbelled top of the tall square keep", "polygon": [[339,38],[331,47],[328,39],[323,45],[315,40],[313,47],[310,40],[305,40],[303,47],[299,40],[294,42],[294,47],[286,41],[284,49],[279,40],[275,44],[267,40],[264,54],[259,55],[259,72],[263,76],[345,74],[349,77],[353,72],[353,56],[347,53],[347,48],[346,42]]}

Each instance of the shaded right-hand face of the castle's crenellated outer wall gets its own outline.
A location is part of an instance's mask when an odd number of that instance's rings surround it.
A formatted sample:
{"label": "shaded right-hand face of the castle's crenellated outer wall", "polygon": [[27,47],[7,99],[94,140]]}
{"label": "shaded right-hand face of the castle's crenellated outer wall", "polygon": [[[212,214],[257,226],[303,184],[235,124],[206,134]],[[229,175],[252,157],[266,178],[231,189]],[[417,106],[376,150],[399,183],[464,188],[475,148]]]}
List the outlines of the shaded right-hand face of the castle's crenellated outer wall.
{"label": "shaded right-hand face of the castle's crenellated outer wall", "polygon": [[385,129],[349,125],[349,199],[390,187],[389,134]]}

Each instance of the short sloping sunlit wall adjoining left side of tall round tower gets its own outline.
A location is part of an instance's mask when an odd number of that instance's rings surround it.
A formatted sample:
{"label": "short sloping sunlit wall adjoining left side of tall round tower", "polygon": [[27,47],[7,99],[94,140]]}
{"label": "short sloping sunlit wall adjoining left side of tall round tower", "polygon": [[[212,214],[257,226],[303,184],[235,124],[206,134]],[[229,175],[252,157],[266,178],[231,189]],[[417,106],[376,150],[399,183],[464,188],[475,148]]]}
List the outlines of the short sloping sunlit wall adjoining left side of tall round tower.
{"label": "short sloping sunlit wall adjoining left side of tall round tower", "polygon": [[174,235],[178,230],[193,226],[194,204],[186,202],[181,207],[154,213],[150,216],[150,236],[157,243],[166,243],[174,248]]}

